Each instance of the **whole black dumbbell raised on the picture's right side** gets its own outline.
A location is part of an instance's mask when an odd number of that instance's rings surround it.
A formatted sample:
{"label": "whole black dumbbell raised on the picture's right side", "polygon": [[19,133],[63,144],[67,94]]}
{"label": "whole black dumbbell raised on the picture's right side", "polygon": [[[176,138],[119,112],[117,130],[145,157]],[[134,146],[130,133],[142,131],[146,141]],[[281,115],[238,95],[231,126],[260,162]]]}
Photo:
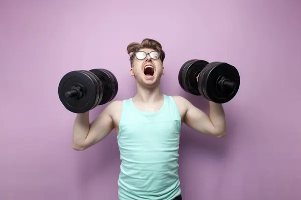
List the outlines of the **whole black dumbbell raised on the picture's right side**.
{"label": "whole black dumbbell raised on the picture's right side", "polygon": [[226,62],[209,63],[199,59],[185,62],[180,68],[178,79],[184,91],[202,95],[216,103],[230,101],[240,84],[239,72],[234,66]]}

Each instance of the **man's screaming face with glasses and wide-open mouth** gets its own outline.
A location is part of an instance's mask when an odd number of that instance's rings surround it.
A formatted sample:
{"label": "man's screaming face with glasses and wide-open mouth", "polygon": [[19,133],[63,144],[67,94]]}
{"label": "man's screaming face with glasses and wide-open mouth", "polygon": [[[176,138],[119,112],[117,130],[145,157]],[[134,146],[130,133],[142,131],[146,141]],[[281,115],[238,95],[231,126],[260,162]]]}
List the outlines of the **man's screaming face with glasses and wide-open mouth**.
{"label": "man's screaming face with glasses and wide-open mouth", "polygon": [[155,85],[165,73],[160,53],[150,48],[141,48],[134,55],[130,74],[144,85]]}

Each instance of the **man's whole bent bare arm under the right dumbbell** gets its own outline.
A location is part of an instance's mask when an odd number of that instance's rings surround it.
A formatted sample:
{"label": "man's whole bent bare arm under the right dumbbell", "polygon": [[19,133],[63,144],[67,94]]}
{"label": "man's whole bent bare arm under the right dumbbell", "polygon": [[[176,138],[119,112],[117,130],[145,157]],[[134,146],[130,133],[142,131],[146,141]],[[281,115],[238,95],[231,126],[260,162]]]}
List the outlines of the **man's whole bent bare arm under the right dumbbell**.
{"label": "man's whole bent bare arm under the right dumbbell", "polygon": [[185,110],[183,122],[189,127],[214,137],[226,136],[226,119],[222,104],[209,101],[210,111],[207,115],[184,97],[178,97],[178,102],[182,110]]}

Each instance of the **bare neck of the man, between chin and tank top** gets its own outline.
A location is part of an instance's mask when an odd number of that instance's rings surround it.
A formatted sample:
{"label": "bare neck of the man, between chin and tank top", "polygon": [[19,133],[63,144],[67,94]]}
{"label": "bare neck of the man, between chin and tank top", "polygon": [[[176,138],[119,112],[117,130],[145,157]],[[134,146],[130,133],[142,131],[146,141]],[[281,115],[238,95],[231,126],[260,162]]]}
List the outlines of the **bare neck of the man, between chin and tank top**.
{"label": "bare neck of the man, between chin and tank top", "polygon": [[135,100],[142,102],[155,102],[162,98],[160,86],[156,85],[152,88],[145,88],[137,84],[137,93],[133,97]]}

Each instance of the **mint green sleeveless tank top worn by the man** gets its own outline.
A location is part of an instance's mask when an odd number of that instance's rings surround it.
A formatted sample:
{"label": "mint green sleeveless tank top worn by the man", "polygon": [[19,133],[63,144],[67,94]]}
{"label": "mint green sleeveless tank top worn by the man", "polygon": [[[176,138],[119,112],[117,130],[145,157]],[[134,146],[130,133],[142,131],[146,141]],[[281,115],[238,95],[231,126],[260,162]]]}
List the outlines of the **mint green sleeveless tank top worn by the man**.
{"label": "mint green sleeveless tank top worn by the man", "polygon": [[170,200],[181,194],[178,157],[181,116],[172,96],[163,94],[156,112],[123,100],[117,141],[120,151],[120,200]]}

